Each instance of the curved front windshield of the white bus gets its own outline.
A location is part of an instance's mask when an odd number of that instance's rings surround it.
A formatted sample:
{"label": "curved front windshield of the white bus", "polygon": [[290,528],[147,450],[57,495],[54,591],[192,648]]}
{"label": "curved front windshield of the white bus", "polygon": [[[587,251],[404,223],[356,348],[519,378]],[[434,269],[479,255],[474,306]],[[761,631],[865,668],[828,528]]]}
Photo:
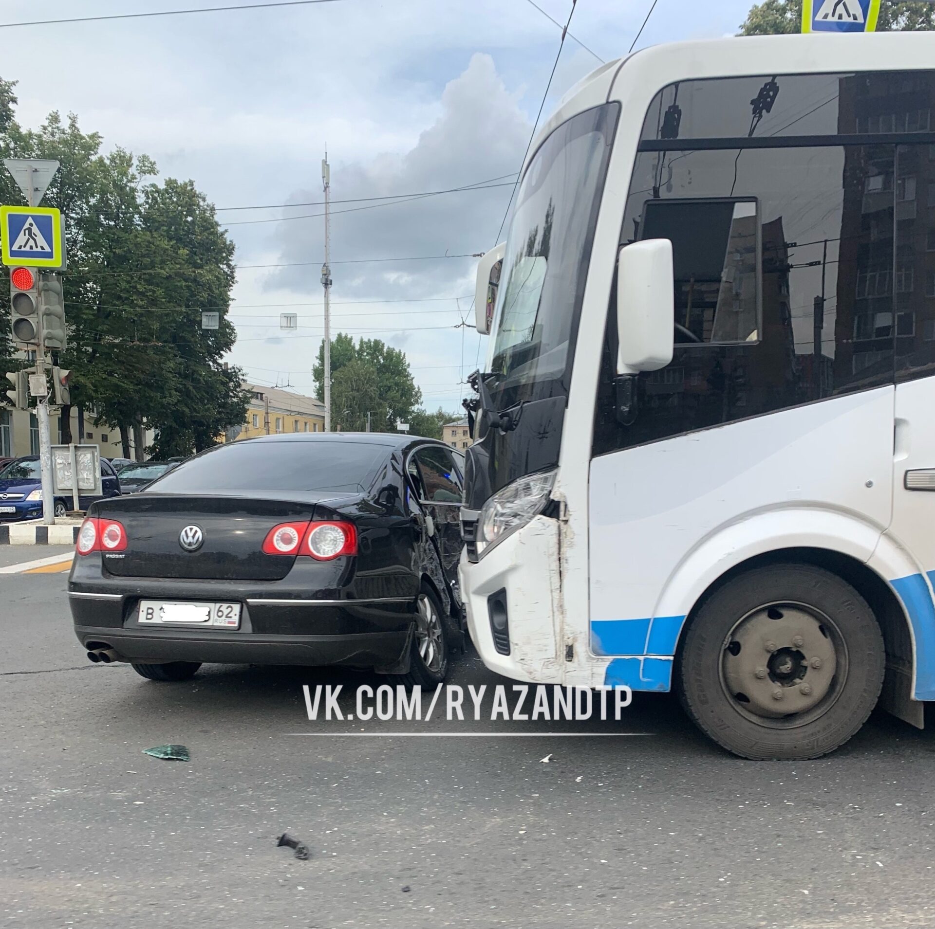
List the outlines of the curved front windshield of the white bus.
{"label": "curved front windshield of the white bus", "polygon": [[[566,390],[617,106],[563,123],[520,185],[501,273],[488,370],[497,408]],[[552,385],[537,390],[541,384]]]}

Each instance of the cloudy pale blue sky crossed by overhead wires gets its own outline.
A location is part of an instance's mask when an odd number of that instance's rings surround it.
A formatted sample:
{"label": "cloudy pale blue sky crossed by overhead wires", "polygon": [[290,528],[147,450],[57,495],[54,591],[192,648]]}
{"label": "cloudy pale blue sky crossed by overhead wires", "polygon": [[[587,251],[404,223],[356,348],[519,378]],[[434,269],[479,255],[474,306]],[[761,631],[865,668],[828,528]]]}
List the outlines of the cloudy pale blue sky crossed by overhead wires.
{"label": "cloudy pale blue sky crossed by overhead wires", "polygon": [[[0,0],[0,24],[242,2]],[[537,3],[568,17],[569,0]],[[543,117],[595,56],[626,52],[651,5],[578,0],[570,33],[587,50],[566,40]],[[639,47],[734,33],[750,5],[657,0]],[[106,146],[150,154],[219,207],[239,265],[232,361],[299,393],[312,389],[323,333],[327,145],[333,332],[405,350],[424,405],[460,408],[485,350],[470,325],[457,328],[471,322],[475,262],[434,256],[496,244],[561,36],[529,0],[336,0],[2,32],[0,77],[19,81],[24,124],[73,111]],[[283,311],[297,313],[297,331],[280,331]]]}

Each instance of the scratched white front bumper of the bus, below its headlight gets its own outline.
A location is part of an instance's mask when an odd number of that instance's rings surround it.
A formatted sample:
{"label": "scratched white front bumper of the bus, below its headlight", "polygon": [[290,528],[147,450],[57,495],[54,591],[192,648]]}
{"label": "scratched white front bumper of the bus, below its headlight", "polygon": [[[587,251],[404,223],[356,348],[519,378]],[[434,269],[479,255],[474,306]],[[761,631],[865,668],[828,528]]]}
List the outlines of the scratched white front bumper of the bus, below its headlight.
{"label": "scratched white front bumper of the bus, below its headlight", "polygon": [[458,568],[471,641],[497,674],[562,683],[558,521],[537,516]]}

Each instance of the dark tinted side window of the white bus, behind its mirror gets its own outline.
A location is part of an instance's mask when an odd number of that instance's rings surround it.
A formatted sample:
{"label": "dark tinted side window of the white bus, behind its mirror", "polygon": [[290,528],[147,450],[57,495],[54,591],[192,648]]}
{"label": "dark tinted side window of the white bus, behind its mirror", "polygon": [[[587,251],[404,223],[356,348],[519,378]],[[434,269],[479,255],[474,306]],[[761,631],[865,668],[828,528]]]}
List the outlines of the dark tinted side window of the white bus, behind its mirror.
{"label": "dark tinted side window of the white bus, behind its mirror", "polygon": [[[758,78],[683,82],[650,109],[620,242],[671,240],[681,328],[621,425],[608,314],[595,454],[935,373],[935,147],[913,137],[935,130],[935,71],[777,82],[753,124]],[[819,107],[799,118],[805,86]]]}

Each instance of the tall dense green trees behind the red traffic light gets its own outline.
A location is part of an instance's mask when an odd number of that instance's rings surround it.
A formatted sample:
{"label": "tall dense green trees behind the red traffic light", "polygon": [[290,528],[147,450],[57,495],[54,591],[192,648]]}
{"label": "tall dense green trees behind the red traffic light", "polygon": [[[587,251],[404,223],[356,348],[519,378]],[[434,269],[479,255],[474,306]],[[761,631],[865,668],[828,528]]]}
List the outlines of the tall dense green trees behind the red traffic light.
{"label": "tall dense green trees behind the red traffic light", "polygon": [[[243,422],[241,373],[221,358],[236,337],[226,319],[234,283],[233,244],[191,181],[155,183],[146,155],[117,148],[101,154],[102,138],[83,133],[78,118],[52,112],[38,130],[15,119],[14,84],[0,80],[0,155],[54,158],[61,163],[44,203],[65,215],[68,269],[63,277],[68,346],[56,359],[73,372],[73,403],[122,438],[155,427],[154,449],[188,454],[207,448],[225,428]],[[0,200],[22,203],[7,172]],[[221,314],[217,331],[201,329],[201,309]],[[7,289],[0,287],[0,365],[10,358]],[[65,441],[70,409],[63,409]]]}

